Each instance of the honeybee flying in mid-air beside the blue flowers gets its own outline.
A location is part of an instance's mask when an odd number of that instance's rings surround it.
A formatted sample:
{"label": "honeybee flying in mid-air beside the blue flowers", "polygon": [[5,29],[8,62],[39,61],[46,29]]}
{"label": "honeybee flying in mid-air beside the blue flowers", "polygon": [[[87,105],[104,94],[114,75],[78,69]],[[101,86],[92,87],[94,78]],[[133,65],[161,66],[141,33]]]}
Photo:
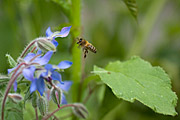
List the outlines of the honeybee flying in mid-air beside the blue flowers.
{"label": "honeybee flying in mid-air beside the blue flowers", "polygon": [[88,50],[90,50],[93,53],[97,52],[96,48],[91,43],[89,43],[87,40],[85,40],[83,38],[77,38],[77,39],[78,39],[77,44],[79,44],[79,47],[81,46],[83,48],[84,58],[86,58]]}

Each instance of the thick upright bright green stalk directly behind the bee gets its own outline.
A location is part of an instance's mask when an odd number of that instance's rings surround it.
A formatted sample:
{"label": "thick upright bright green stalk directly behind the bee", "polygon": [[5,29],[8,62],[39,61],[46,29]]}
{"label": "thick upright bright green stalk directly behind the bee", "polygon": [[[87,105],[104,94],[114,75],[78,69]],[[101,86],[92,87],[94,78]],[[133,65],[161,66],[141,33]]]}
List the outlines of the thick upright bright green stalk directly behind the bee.
{"label": "thick upright bright green stalk directly behind the bee", "polygon": [[71,5],[71,14],[70,14],[70,22],[72,24],[72,40],[73,40],[73,47],[72,47],[72,60],[73,60],[73,71],[72,71],[72,80],[73,80],[73,86],[72,86],[72,97],[73,102],[78,102],[78,88],[81,81],[81,49],[77,47],[77,44],[75,42],[75,38],[78,37],[81,33],[80,30],[80,23],[81,23],[81,0],[72,0]]}

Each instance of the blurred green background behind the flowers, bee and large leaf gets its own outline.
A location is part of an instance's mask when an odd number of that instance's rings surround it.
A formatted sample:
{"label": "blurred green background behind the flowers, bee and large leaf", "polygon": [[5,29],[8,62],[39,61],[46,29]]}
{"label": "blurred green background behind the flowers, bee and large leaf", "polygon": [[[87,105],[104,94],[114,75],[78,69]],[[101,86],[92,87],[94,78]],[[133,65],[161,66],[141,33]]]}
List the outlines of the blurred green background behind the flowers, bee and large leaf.
{"label": "blurred green background behind the flowers, bee and large leaf", "polygon": [[[179,98],[180,1],[137,0],[137,5],[138,22],[121,0],[82,0],[82,36],[98,50],[97,54],[88,54],[85,73],[89,75],[93,65],[105,67],[109,61],[123,61],[139,55],[152,65],[165,69]],[[49,26],[54,31],[57,26],[68,22],[61,7],[53,0],[1,0],[0,72],[6,74],[9,68],[6,53],[16,59],[28,42],[45,36]],[[71,60],[71,37],[58,38],[57,41],[58,51],[51,62],[57,64],[60,60]],[[70,79],[68,73],[64,79]],[[139,102],[131,104],[118,100],[105,86],[93,94],[87,108],[90,120],[178,119],[178,116],[156,114]],[[180,112],[179,102],[176,110]]]}

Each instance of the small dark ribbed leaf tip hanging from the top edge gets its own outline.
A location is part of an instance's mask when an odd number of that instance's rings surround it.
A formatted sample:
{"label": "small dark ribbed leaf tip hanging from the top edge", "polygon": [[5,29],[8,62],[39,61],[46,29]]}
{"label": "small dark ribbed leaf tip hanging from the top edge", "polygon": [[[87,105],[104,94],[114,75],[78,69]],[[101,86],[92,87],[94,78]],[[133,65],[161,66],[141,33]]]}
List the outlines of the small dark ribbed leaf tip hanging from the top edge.
{"label": "small dark ribbed leaf tip hanging from the top edge", "polygon": [[123,0],[126,6],[128,7],[131,15],[137,20],[138,8],[136,0]]}

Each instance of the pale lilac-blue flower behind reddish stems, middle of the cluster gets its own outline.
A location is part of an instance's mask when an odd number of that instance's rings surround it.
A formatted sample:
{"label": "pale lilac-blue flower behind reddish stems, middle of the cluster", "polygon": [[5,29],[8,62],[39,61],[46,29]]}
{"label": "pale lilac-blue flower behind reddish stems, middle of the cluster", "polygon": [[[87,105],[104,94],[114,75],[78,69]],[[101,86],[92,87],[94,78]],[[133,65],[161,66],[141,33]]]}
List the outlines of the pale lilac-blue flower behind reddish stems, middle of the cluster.
{"label": "pale lilac-blue flower behind reddish stems, middle of the cluster", "polygon": [[[28,53],[27,56],[21,60],[20,64],[24,63],[24,65],[19,68],[17,73],[22,71],[25,78],[29,74],[34,74],[34,71],[36,69],[35,66],[42,66],[42,65],[47,64],[49,62],[52,54],[53,54],[52,51],[48,51],[44,56],[36,55],[35,53]],[[16,67],[14,67],[12,69],[8,69],[8,74],[10,74],[16,68],[18,68],[18,66],[20,64],[18,64]],[[15,80],[14,91],[16,91],[16,90],[17,90],[17,81]]]}

